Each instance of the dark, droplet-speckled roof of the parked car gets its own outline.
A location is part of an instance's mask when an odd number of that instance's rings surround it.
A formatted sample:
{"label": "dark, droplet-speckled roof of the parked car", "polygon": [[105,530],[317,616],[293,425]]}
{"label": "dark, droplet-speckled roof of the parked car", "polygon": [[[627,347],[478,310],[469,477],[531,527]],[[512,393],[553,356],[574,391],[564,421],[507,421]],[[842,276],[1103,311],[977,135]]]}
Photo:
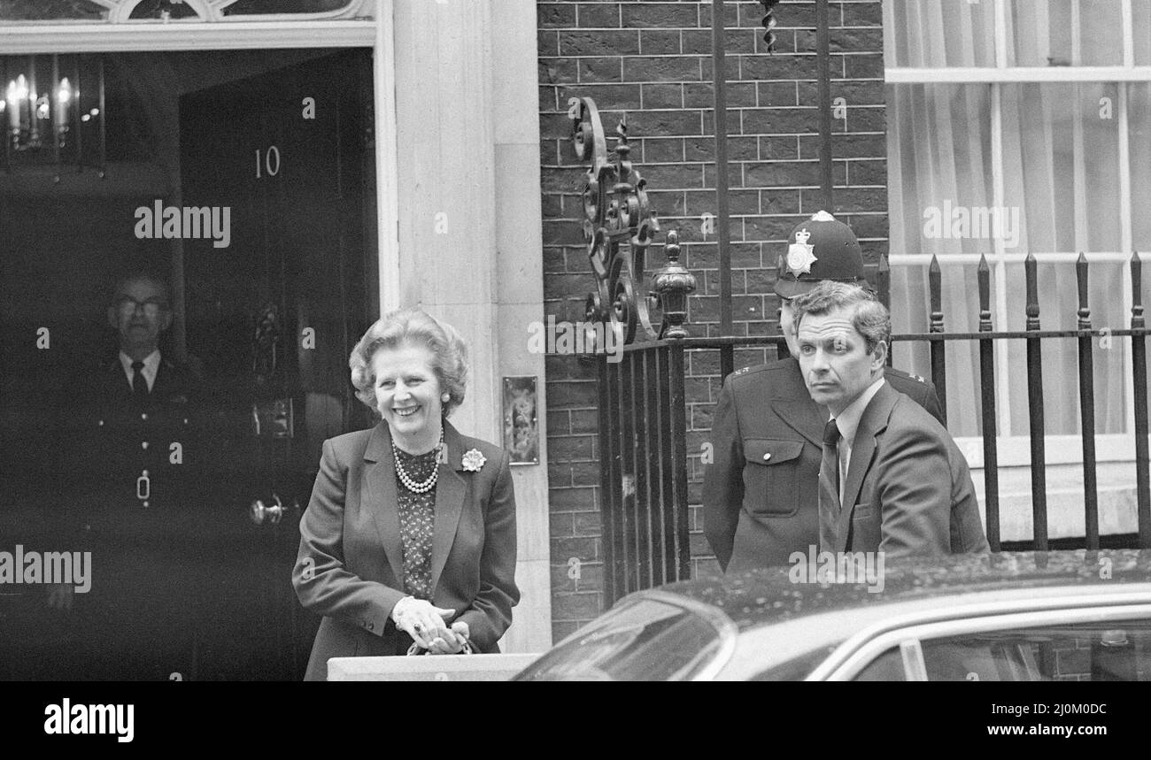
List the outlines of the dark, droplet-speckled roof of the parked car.
{"label": "dark, droplet-speckled roof of the parked car", "polygon": [[[826,558],[813,553],[805,558],[805,565],[813,565],[813,559],[818,566]],[[885,560],[878,592],[869,590],[878,584],[869,584],[866,578],[796,582],[793,578],[809,577],[796,568],[801,563],[684,581],[661,586],[660,592],[716,607],[744,630],[861,606],[920,600],[943,605],[948,598],[970,599],[970,594],[981,592],[1007,599],[1036,592],[1047,596],[1060,586],[1076,593],[1119,592],[1125,586],[1135,591],[1130,584],[1148,584],[1139,590],[1151,590],[1151,550],[997,552]]]}

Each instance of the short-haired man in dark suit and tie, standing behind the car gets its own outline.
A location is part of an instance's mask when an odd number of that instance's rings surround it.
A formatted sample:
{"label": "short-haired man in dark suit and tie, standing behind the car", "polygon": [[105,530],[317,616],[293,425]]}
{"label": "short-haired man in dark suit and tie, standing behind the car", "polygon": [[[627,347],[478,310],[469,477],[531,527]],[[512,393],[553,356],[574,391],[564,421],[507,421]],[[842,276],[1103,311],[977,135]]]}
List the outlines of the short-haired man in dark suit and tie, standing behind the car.
{"label": "short-haired man in dark suit and tie, standing behind the car", "polygon": [[967,460],[946,429],[884,379],[891,320],[868,291],[821,283],[795,299],[799,364],[828,407],[820,547],[908,554],[985,552]]}

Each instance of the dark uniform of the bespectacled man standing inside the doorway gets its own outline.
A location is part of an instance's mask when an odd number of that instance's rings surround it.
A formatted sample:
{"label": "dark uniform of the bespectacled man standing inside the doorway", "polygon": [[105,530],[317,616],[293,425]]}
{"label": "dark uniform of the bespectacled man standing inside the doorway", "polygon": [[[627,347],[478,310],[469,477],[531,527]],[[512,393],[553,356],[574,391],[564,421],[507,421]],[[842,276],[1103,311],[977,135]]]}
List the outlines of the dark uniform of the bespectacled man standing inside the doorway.
{"label": "dark uniform of the bespectacled man standing inside the doorway", "polygon": [[69,551],[92,552],[75,594],[77,678],[188,677],[205,525],[204,406],[191,373],[161,356],[146,399],[119,356],[69,381],[58,410]]}

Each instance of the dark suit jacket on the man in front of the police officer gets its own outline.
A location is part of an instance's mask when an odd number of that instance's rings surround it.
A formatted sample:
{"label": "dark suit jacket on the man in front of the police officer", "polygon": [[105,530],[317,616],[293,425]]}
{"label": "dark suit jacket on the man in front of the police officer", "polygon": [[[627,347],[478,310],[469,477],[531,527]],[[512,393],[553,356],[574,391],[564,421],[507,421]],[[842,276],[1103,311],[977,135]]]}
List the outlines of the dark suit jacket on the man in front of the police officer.
{"label": "dark suit jacket on the man in front of the police officer", "polygon": [[939,422],[884,383],[860,417],[843,508],[820,505],[820,547],[907,554],[986,552],[975,486]]}

